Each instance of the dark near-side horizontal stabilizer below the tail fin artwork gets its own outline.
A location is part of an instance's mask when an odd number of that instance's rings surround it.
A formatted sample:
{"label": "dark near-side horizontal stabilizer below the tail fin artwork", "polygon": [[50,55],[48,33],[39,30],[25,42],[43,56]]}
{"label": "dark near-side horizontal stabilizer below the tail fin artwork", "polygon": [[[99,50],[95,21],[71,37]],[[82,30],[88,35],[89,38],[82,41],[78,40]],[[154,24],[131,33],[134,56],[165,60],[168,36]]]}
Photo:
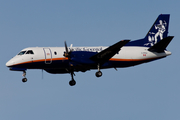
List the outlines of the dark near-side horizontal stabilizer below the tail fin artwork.
{"label": "dark near-side horizontal stabilizer below the tail fin artwork", "polygon": [[174,36],[168,36],[168,37],[162,39],[161,41],[159,41],[158,43],[156,43],[155,45],[150,47],[148,50],[152,51],[152,52],[158,52],[158,53],[164,52],[164,50],[166,49],[168,44],[171,42],[173,37]]}

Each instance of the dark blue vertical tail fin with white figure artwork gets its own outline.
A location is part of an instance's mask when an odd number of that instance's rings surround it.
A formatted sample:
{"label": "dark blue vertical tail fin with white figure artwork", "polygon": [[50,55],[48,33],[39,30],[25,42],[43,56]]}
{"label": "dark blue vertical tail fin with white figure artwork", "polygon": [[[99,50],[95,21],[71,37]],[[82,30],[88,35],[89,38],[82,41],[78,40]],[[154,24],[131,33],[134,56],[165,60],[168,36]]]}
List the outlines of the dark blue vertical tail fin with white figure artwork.
{"label": "dark blue vertical tail fin with white figure artwork", "polygon": [[169,14],[159,15],[145,38],[129,42],[126,46],[151,47],[163,38],[166,38],[168,36],[169,18]]}

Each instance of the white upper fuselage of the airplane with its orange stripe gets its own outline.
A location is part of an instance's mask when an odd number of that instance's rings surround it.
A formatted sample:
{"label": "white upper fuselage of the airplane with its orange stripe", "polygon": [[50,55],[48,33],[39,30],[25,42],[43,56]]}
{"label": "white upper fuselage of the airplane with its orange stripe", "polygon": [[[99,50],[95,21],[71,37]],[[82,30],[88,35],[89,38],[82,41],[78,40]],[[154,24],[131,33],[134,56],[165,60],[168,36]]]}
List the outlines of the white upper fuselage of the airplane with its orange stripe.
{"label": "white upper fuselage of the airplane with its orange stripe", "polygon": [[[69,49],[71,49],[71,51],[100,52],[106,48],[107,47],[72,47]],[[150,52],[147,49],[148,47],[124,46],[109,61],[117,64],[117,66],[113,64],[112,67],[129,67],[171,55],[171,52],[169,51],[157,53]],[[45,69],[47,65],[48,68],[50,68],[51,65],[52,68],[54,68],[56,66],[54,64],[55,61],[61,61],[61,64],[63,64],[63,61],[67,61],[67,58],[63,56],[65,52],[64,47],[29,47],[23,49],[22,51],[24,51],[24,54],[16,55],[6,63],[6,66],[16,67],[19,65],[23,66],[24,64],[28,64],[29,67],[26,66],[27,69]],[[33,54],[26,54],[27,51],[33,51]],[[120,63],[122,62],[127,62],[127,65],[121,66]],[[32,63],[34,63],[33,67],[31,66]],[[59,69],[60,67],[61,66],[58,66]],[[64,68],[65,66],[63,66],[63,69]],[[108,66],[107,68],[111,68],[111,66]]]}

